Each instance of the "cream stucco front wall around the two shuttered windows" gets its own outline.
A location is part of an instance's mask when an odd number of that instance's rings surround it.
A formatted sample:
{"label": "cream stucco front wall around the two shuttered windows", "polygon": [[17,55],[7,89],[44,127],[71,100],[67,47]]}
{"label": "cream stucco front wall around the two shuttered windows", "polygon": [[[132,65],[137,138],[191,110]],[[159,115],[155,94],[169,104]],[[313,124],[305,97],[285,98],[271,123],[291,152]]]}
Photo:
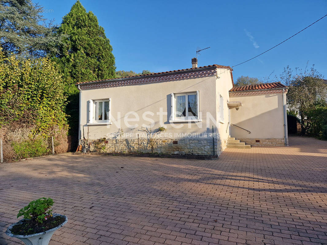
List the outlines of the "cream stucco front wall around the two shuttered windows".
{"label": "cream stucco front wall around the two shuttered windows", "polygon": [[[199,111],[202,112],[202,122],[174,123],[176,127],[180,127],[174,128],[171,123],[168,122],[171,113],[171,93],[193,92],[197,90],[199,91]],[[112,121],[118,120],[121,121],[121,124],[87,125],[88,101],[90,99],[97,100],[105,98],[111,98]],[[154,120],[155,125],[153,129],[160,126],[160,116],[157,115],[157,113],[159,113],[160,108],[162,108],[162,111],[168,114],[168,116],[163,116],[162,120],[163,126],[167,129],[167,133],[180,131],[202,133],[207,130],[206,112],[215,115],[216,107],[214,98],[215,76],[144,85],[83,90],[81,98],[81,124],[84,125],[85,132],[87,127],[89,128],[89,135],[92,139],[106,137],[107,133],[117,132],[119,128],[122,128],[125,133],[138,133],[138,129],[142,125],[148,126],[151,124],[142,118],[145,112],[154,113],[153,116],[146,115],[146,117]],[[134,129],[130,129],[124,123],[124,116],[131,111],[136,112],[139,116],[137,122],[129,122],[129,124],[137,124]],[[129,118],[132,119],[135,117],[130,115]]]}

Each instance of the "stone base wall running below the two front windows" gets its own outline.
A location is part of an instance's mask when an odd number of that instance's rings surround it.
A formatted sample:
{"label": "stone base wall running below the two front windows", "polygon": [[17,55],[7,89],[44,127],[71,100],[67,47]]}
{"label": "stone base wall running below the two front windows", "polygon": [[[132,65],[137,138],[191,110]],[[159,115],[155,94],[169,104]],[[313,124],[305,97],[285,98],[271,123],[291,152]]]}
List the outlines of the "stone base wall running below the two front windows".
{"label": "stone base wall running below the two front windows", "polygon": [[[177,144],[174,144],[177,141]],[[153,142],[153,143],[152,143]],[[176,143],[176,142],[175,142]],[[152,146],[152,147],[151,147]],[[215,155],[217,155],[215,140]],[[98,139],[90,142],[91,152],[160,153],[213,155],[211,139]]]}

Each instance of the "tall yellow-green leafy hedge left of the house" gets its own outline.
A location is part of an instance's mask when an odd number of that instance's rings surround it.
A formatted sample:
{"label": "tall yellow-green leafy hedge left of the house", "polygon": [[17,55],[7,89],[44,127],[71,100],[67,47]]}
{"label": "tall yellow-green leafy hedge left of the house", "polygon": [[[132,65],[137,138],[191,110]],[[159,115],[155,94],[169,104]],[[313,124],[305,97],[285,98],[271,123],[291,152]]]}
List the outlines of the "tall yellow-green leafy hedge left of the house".
{"label": "tall yellow-green leafy hedge left of the house", "polygon": [[68,129],[67,96],[57,64],[48,58],[19,61],[0,48],[0,127],[35,126],[34,135],[51,136],[51,128]]}

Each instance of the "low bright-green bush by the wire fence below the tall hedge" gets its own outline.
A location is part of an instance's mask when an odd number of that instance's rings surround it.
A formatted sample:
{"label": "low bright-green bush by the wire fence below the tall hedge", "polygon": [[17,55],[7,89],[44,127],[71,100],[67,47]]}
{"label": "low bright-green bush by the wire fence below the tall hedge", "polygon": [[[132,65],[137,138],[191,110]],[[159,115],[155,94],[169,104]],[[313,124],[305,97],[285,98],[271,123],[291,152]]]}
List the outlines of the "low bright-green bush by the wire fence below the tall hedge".
{"label": "low bright-green bush by the wire fence below the tall hedge", "polygon": [[18,159],[42,156],[48,153],[47,143],[42,137],[13,142],[12,147]]}

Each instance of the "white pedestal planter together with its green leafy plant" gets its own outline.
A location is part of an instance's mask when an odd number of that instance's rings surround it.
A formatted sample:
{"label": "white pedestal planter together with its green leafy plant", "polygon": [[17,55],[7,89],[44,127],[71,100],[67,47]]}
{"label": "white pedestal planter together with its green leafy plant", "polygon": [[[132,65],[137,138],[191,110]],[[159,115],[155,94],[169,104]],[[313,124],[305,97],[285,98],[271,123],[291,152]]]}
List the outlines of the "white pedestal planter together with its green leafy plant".
{"label": "white pedestal planter together with its green leafy plant", "polygon": [[19,210],[17,218],[24,219],[10,225],[6,234],[22,240],[26,245],[47,245],[53,233],[67,223],[67,217],[52,214],[51,198],[40,198]]}

